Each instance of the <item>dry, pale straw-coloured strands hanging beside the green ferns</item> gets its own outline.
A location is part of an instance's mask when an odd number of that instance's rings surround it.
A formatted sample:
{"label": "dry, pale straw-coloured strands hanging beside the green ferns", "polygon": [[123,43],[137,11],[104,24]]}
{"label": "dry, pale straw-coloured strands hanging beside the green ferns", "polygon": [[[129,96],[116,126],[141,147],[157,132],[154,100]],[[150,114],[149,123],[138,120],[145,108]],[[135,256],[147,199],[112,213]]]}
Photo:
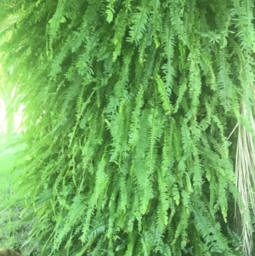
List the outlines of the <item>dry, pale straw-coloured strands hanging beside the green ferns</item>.
{"label": "dry, pale straw-coloured strands hanging beside the green ferns", "polygon": [[[244,104],[241,105],[241,115],[249,118],[252,132],[255,131],[255,120],[252,111],[246,111]],[[238,225],[241,226],[238,227],[238,230],[241,230],[243,253],[247,256],[251,255],[253,246],[250,209],[255,213],[255,200],[253,196],[255,185],[255,147],[252,132],[248,132],[244,126],[239,124],[235,159],[236,185],[241,195],[242,204],[239,207],[235,206],[235,217],[240,216],[240,223]],[[237,219],[239,218],[237,217]]]}

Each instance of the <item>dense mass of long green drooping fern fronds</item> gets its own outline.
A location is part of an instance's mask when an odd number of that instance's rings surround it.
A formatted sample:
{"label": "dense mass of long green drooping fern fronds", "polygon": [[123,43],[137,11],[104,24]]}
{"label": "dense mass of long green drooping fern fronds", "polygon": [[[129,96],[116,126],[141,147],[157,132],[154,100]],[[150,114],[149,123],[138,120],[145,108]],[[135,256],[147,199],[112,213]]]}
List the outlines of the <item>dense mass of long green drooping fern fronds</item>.
{"label": "dense mass of long green drooping fern fronds", "polygon": [[243,255],[227,138],[251,127],[253,1],[0,5],[4,81],[26,105],[30,242],[43,255]]}

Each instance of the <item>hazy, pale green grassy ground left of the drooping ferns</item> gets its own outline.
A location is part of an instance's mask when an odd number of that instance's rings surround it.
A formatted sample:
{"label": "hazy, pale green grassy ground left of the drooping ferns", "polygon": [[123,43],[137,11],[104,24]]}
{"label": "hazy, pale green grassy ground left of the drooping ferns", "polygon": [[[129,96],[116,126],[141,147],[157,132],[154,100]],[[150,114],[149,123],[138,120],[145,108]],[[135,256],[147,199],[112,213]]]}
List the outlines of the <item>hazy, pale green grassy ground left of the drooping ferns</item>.
{"label": "hazy, pale green grassy ground left of the drooping ferns", "polygon": [[[21,211],[24,208],[24,196],[16,194],[19,188],[15,187],[18,183],[15,181],[17,173],[14,171],[14,158],[24,149],[24,146],[17,144],[19,139],[18,134],[0,135],[0,247],[21,247],[31,227],[20,221],[23,218]],[[26,249],[25,254],[28,252]]]}

